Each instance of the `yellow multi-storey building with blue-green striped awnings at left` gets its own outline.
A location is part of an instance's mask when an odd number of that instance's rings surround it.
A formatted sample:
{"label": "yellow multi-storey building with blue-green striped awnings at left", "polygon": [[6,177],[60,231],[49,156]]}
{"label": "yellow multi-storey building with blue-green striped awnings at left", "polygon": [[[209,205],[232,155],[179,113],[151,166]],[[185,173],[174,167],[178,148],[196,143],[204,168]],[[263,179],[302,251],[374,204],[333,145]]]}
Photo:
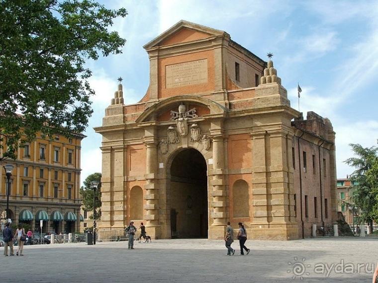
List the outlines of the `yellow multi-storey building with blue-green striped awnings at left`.
{"label": "yellow multi-storey building with blue-green striped awnings at left", "polygon": [[9,178],[8,202],[8,178],[1,168],[1,223],[6,221],[8,206],[12,223],[28,223],[35,231],[40,231],[41,223],[43,233],[80,231],[83,219],[79,194],[80,156],[84,138],[82,134],[68,139],[57,135],[50,141],[38,135],[35,141],[18,149],[16,160],[1,162],[1,166],[14,166]]}

